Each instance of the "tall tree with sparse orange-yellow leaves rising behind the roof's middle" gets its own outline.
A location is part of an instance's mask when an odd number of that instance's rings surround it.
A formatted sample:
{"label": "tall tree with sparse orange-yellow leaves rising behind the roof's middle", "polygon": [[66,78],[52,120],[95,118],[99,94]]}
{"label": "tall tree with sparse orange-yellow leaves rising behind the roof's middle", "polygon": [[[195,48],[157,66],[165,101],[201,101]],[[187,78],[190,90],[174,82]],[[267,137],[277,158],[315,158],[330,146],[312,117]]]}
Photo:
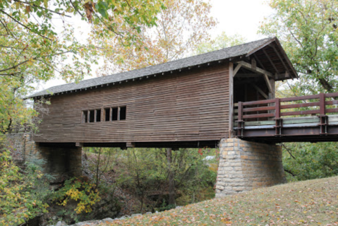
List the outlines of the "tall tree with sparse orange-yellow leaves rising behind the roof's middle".
{"label": "tall tree with sparse orange-yellow leaves rising behind the roof's middle", "polygon": [[[210,0],[163,0],[165,9],[157,14],[157,26],[143,28],[142,48],[126,47],[114,35],[107,39],[101,32],[92,34],[91,41],[100,48],[105,64],[98,71],[102,76],[140,69],[180,59],[196,45],[210,38],[216,20],[211,15]],[[104,32],[104,28],[102,30]],[[138,32],[129,29],[131,34]],[[147,51],[145,51],[145,49]]]}

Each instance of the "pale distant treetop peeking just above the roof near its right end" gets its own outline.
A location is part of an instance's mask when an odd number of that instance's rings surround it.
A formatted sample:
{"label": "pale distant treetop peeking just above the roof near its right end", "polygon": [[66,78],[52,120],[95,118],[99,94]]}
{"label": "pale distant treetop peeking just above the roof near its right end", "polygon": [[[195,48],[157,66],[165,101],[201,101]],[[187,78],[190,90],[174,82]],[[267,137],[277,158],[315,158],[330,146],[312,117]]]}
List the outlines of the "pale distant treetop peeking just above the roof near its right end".
{"label": "pale distant treetop peeking just above the roof near its right end", "polygon": [[204,54],[206,52],[212,52],[219,49],[224,49],[227,47],[233,47],[238,44],[243,44],[246,42],[246,38],[241,35],[227,35],[225,32],[222,32],[221,35],[218,35],[214,40],[210,42],[204,42],[199,44],[194,51],[194,55]]}

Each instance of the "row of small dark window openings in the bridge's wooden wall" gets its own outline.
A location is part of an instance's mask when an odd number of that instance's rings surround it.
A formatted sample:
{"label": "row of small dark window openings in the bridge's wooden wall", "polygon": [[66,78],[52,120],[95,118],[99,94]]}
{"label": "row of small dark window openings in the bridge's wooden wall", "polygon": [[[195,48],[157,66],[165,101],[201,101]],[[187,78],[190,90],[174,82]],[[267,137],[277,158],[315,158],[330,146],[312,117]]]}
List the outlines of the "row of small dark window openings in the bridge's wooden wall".
{"label": "row of small dark window openings in the bridge's wooden wall", "polygon": [[[89,113],[89,116],[88,116]],[[127,107],[109,107],[104,109],[104,121],[126,120]],[[82,122],[101,121],[101,109],[83,111]]]}

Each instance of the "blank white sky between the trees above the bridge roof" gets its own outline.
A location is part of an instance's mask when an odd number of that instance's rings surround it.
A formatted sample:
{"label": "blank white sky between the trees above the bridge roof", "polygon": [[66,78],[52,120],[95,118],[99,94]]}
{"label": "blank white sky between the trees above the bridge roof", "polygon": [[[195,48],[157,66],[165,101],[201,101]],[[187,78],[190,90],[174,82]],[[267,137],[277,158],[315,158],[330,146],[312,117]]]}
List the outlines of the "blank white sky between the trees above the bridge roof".
{"label": "blank white sky between the trees above the bridge roof", "polygon": [[[210,0],[210,3],[211,15],[219,22],[217,28],[210,32],[212,37],[226,32],[227,35],[239,34],[246,37],[248,42],[264,38],[257,34],[260,22],[273,13],[266,0]],[[95,73],[95,69],[92,71]],[[61,79],[41,83],[37,85],[36,92],[64,83]]]}

